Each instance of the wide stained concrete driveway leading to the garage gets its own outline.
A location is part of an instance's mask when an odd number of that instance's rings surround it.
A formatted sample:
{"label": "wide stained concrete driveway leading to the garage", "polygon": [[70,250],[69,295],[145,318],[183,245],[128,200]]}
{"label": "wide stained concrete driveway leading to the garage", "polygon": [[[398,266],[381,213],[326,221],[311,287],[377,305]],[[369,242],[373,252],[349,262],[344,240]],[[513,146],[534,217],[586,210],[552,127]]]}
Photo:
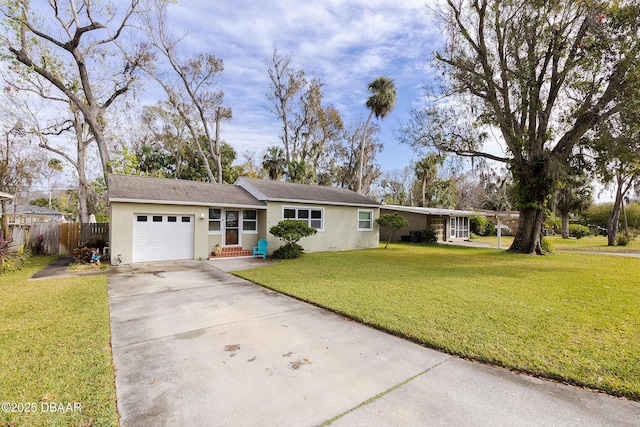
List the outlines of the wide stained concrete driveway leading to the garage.
{"label": "wide stained concrete driveway leading to the garage", "polygon": [[122,426],[631,426],[640,419],[638,402],[421,347],[239,279],[222,263],[110,270]]}

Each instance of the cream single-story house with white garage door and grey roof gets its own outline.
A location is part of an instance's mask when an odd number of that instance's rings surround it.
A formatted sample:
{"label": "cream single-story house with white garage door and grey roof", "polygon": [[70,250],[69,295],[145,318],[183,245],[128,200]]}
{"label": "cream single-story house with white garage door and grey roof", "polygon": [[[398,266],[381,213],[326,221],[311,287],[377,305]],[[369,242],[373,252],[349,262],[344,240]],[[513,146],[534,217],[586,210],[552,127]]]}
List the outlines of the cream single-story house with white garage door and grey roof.
{"label": "cream single-story house with white garage door and grey roof", "polygon": [[250,251],[283,219],[318,233],[300,243],[309,252],[378,246],[380,204],[351,190],[240,178],[235,184],[108,176],[112,263],[200,259],[222,249]]}

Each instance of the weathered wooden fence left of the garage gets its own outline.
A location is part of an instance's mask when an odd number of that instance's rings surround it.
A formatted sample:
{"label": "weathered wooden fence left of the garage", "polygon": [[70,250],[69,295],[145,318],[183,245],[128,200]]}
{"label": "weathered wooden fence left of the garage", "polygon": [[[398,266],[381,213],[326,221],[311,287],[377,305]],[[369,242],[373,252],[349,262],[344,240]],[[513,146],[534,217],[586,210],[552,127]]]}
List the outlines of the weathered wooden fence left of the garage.
{"label": "weathered wooden fence left of the garage", "polygon": [[104,246],[109,241],[109,223],[42,222],[9,225],[9,237],[13,239],[10,250],[17,251],[22,245],[33,248],[38,236],[42,236],[45,254],[69,256],[80,246]]}

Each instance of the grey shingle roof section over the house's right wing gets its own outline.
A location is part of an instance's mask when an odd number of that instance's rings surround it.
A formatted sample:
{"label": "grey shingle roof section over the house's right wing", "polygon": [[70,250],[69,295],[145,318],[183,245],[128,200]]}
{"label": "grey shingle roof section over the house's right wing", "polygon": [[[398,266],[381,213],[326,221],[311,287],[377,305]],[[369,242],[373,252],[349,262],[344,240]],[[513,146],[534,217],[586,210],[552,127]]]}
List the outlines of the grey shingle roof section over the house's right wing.
{"label": "grey shingle roof section over the house's right wing", "polygon": [[261,201],[380,206],[380,203],[346,188],[294,184],[255,178],[238,178],[235,185],[246,189]]}

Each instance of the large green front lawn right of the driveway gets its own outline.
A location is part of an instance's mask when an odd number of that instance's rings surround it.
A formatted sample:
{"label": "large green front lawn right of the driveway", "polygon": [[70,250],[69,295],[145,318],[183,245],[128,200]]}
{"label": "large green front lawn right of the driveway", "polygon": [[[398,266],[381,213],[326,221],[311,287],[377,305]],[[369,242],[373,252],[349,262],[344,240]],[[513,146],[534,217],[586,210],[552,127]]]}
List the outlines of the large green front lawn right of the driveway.
{"label": "large green front lawn right of the driveway", "polygon": [[638,262],[398,243],[236,274],[451,354],[638,400]]}

